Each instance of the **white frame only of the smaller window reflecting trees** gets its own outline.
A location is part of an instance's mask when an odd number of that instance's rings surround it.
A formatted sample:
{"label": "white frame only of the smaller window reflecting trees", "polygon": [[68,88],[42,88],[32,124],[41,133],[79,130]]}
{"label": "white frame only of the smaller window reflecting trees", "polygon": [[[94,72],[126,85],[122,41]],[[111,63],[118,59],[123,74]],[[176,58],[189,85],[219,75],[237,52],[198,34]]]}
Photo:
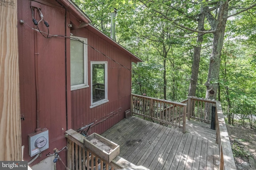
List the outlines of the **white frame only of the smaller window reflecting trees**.
{"label": "white frame only of the smaller window reflecting trees", "polygon": [[[105,99],[99,100],[97,102],[93,103],[93,96],[92,96],[92,64],[105,64]],[[108,62],[107,61],[91,61],[91,106],[92,107],[96,107],[99,106],[101,104],[104,104],[108,102]]]}

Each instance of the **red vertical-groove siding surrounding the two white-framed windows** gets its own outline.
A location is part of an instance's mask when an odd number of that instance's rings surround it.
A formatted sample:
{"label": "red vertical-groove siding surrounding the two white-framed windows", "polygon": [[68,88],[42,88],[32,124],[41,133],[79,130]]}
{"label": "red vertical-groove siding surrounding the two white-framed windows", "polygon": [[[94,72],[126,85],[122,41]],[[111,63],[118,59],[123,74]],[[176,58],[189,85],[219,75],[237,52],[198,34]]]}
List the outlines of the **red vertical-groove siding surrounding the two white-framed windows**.
{"label": "red vertical-groove siding surrounding the two white-framed windows", "polygon": [[[94,34],[87,27],[71,30],[74,36],[88,39],[88,82],[89,87],[71,91],[72,129],[94,122],[89,133],[101,134],[108,128],[124,119],[124,111],[130,108],[131,93],[131,59],[122,51]],[[92,47],[93,48],[92,48]],[[100,51],[100,53],[96,50]],[[111,59],[109,59],[108,57]],[[112,59],[120,64],[112,61]],[[91,61],[108,62],[108,100],[109,102],[91,106]]]}

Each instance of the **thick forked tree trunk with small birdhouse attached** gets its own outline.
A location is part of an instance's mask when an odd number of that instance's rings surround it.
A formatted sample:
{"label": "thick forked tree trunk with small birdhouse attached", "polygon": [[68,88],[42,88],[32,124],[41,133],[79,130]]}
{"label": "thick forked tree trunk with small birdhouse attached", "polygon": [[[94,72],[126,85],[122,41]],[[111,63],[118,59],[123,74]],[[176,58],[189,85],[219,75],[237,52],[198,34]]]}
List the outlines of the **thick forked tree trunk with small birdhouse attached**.
{"label": "thick forked tree trunk with small birdhouse attached", "polygon": [[216,100],[220,72],[220,55],[223,47],[226,21],[228,16],[228,0],[220,1],[218,9],[218,19],[212,18],[212,15],[206,14],[212,30],[216,30],[213,37],[212,53],[210,55],[210,66],[206,85],[206,99]]}

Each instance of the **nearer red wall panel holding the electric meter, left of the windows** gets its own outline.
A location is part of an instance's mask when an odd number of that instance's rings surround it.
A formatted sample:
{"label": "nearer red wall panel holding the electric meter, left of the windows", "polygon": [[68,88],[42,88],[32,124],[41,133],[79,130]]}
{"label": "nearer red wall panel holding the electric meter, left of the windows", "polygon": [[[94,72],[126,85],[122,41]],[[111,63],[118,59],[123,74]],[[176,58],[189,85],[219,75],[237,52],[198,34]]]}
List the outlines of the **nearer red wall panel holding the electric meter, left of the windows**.
{"label": "nearer red wall panel holding the electric meter, left of the windows", "polygon": [[[36,76],[35,58],[38,59],[38,95],[39,126],[49,130],[49,149],[42,152],[33,164],[46,158],[46,153],[54,148],[66,146],[66,76],[65,76],[65,38],[44,38],[39,32],[32,30],[32,14],[28,0],[18,1],[19,68],[20,68],[20,106],[22,121],[22,145],[25,145],[24,160],[32,158],[28,154],[28,134],[36,129]],[[41,11],[50,27],[50,34],[65,35],[65,10],[42,4]],[[34,16],[40,20],[38,11]],[[30,27],[29,27],[29,26]],[[47,32],[43,21],[39,24],[41,31]],[[36,55],[35,55],[36,54]],[[60,153],[66,159],[65,152]],[[32,164],[32,165],[33,165]],[[61,163],[58,164],[62,167]]]}

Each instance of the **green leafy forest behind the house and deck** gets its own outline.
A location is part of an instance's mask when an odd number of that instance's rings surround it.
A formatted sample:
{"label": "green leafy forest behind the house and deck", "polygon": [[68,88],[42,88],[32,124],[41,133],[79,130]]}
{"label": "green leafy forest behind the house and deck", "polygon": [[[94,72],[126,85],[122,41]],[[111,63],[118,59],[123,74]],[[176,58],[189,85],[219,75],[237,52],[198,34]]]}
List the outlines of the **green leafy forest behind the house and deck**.
{"label": "green leafy forest behind the house and deck", "polygon": [[132,65],[132,93],[219,100],[227,123],[256,129],[256,0],[73,1],[144,61]]}

